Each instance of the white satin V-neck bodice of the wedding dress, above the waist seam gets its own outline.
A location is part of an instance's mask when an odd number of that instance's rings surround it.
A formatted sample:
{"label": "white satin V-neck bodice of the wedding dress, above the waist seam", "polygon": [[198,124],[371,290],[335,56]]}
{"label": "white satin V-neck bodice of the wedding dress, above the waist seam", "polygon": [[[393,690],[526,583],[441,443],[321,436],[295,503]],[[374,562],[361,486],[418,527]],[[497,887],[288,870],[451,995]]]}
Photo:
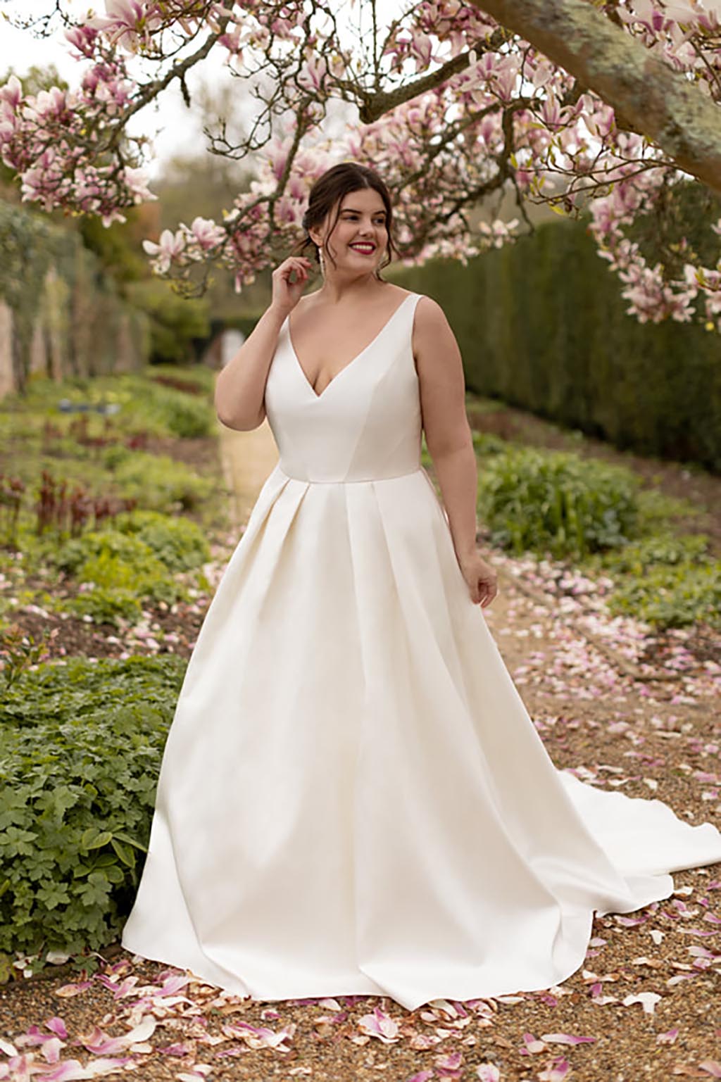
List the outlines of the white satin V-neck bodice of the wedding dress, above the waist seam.
{"label": "white satin V-neck bodice of the wedding dress, above the waist seam", "polygon": [[421,409],[411,347],[419,293],[316,394],[286,318],[265,384],[278,469],[310,481],[380,480],[420,469]]}

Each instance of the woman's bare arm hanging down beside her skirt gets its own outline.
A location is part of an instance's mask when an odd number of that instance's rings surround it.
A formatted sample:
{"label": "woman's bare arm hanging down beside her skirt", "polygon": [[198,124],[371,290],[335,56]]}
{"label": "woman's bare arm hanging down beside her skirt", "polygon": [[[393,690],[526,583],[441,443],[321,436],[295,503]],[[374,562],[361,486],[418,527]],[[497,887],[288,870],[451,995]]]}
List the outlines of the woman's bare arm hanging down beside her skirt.
{"label": "woman's bare arm hanging down beside her skirt", "polygon": [[423,431],[458,565],[471,599],[482,607],[498,592],[497,576],[475,544],[477,466],[466,414],[466,381],[456,337],[441,305],[423,296],[416,306],[412,335],[420,384]]}

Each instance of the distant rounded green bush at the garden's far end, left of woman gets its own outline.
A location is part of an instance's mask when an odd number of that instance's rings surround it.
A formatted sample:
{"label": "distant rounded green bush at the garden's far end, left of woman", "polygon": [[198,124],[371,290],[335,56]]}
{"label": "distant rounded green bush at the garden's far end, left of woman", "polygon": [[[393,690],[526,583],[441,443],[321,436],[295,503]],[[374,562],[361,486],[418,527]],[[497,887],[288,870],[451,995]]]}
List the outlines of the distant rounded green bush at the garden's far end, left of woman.
{"label": "distant rounded green bush at the garden's far end, left of woman", "polygon": [[128,295],[150,320],[150,360],[184,364],[194,359],[193,341],[210,335],[205,299],[185,300],[157,279],[131,285]]}

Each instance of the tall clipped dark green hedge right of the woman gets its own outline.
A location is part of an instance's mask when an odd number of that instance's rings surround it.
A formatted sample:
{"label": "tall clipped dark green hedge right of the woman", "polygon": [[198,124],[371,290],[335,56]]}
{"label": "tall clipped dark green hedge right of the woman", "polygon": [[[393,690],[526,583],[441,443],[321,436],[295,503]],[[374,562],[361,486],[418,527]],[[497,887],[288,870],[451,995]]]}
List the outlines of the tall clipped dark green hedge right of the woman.
{"label": "tall clipped dark green hedge right of the woman", "polygon": [[396,268],[443,306],[469,390],[620,448],[721,471],[721,342],[697,325],[640,324],[582,222],[463,266]]}

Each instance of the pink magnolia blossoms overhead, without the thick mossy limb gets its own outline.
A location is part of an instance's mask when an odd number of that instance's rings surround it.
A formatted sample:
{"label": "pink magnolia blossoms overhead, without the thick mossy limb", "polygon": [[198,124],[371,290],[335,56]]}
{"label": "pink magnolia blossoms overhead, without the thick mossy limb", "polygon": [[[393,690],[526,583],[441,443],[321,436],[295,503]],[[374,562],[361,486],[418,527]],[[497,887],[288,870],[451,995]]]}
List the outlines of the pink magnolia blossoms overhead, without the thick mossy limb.
{"label": "pink magnolia blossoms overhead, without the thick mossy limb", "polygon": [[[721,104],[718,0],[704,6],[625,0],[615,11],[626,32]],[[365,108],[376,84],[359,70],[354,42],[303,0],[106,0],[104,15],[66,31],[68,48],[83,62],[76,88],[24,94],[15,77],[0,87],[2,161],[26,201],[97,214],[105,224],[123,221],[128,207],[155,198],[147,150],[128,134],[127,120],[173,82],[163,75],[186,55],[181,47],[206,41],[224,50],[242,79],[262,75],[263,85],[276,88],[265,103],[267,131],[241,143],[238,156],[253,154],[255,175],[222,222],[196,217],[146,241],[157,274],[182,280],[194,264],[211,262],[242,288],[299,239],[315,177],[350,157],[386,179],[404,263],[436,255],[464,261],[512,242],[517,221],[469,227],[474,193],[515,192],[565,212],[586,206],[629,314],[641,321],[699,319],[721,329],[721,261],[709,267],[677,261],[682,269],[669,278],[628,239],[664,185],[682,176],[657,147],[619,129],[614,110],[594,93],[575,93],[576,80],[527,42],[506,38],[493,45],[498,26],[473,5],[421,0],[379,29],[373,79],[381,92],[412,84],[449,60],[460,63],[445,82],[329,138],[320,128],[329,101],[350,98]],[[157,66],[145,82],[131,78],[126,64],[127,53],[136,52]],[[682,238],[685,256],[683,245]]]}

